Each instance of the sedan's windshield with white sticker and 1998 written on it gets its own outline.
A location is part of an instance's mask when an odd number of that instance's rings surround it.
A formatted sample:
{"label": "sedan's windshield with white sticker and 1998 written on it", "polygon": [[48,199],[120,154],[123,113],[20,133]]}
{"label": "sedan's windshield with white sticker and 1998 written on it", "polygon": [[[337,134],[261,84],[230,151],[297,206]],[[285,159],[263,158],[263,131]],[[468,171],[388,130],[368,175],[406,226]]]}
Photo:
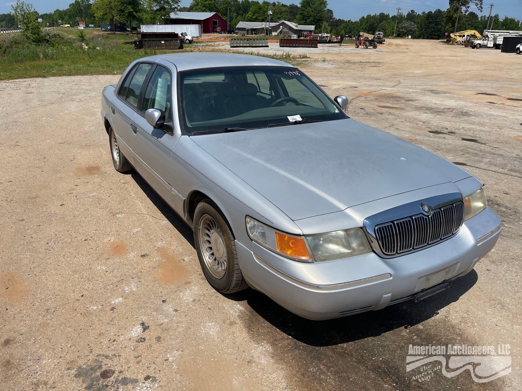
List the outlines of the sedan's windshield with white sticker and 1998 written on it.
{"label": "sedan's windshield with white sticker and 1998 written on it", "polygon": [[347,118],[296,68],[223,67],[179,75],[186,134]]}

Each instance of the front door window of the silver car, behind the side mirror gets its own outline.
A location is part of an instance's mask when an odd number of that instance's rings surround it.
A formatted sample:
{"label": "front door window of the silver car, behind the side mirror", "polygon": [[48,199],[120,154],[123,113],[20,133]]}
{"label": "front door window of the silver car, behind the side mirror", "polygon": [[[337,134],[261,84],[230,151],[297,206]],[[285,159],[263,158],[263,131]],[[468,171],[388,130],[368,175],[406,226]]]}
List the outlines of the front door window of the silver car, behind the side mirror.
{"label": "front door window of the silver car, behind the side mirror", "polygon": [[149,108],[157,108],[165,112],[165,122],[171,119],[172,107],[172,84],[170,74],[167,69],[158,66],[150,77],[141,111],[145,112]]}

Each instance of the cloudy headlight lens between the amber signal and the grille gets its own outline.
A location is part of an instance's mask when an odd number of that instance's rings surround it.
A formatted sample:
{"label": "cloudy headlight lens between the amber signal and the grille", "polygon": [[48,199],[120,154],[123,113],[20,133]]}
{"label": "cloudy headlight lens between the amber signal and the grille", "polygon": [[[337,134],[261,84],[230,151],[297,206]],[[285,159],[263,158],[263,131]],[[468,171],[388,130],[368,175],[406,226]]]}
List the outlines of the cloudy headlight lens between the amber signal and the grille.
{"label": "cloudy headlight lens between the amber signal and the grille", "polygon": [[310,235],[306,239],[317,261],[346,258],[371,251],[370,243],[361,228]]}

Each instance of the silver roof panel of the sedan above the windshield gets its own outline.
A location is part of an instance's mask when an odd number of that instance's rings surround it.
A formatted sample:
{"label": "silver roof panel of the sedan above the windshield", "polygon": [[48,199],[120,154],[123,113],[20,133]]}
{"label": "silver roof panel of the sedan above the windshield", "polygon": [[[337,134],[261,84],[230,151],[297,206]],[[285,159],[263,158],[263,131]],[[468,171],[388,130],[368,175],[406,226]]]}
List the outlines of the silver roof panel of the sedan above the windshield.
{"label": "silver roof panel of the sedan above the windshield", "polygon": [[158,59],[163,59],[174,64],[178,71],[188,69],[243,66],[276,66],[294,68],[293,65],[272,58],[236,53],[169,53],[145,57],[141,58],[140,60],[152,60],[156,62]]}

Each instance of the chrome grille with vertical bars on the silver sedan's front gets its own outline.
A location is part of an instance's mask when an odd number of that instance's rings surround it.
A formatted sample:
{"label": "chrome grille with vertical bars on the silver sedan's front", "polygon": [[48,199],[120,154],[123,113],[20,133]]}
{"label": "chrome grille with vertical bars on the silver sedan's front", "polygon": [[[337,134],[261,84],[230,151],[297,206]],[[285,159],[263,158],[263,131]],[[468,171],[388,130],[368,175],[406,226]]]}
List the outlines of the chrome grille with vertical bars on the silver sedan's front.
{"label": "chrome grille with vertical bars on the silver sedan's front", "polygon": [[399,255],[432,245],[455,234],[464,223],[462,201],[375,226],[375,238],[385,255]]}

